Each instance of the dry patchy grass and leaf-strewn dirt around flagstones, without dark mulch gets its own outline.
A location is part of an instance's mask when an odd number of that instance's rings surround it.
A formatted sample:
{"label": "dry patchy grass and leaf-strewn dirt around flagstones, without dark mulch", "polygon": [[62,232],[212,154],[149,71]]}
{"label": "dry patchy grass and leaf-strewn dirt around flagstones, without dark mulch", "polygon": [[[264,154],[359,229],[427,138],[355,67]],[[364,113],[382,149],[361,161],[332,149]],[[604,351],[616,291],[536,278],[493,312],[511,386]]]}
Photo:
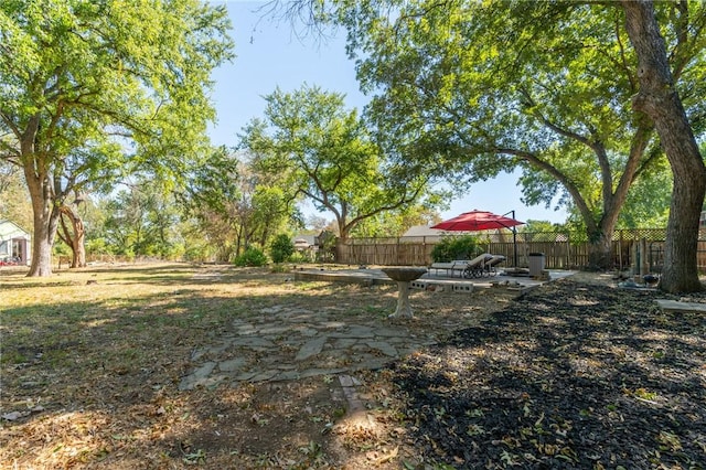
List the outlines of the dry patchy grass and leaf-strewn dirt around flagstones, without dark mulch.
{"label": "dry patchy grass and leaf-strewn dirt around flagstones, without dark mulch", "polygon": [[[398,444],[404,410],[388,398],[385,371],[360,374],[370,428],[342,419],[330,377],[178,389],[193,352],[236,317],[287,303],[382,325],[396,302],[393,286],[289,278],[185,264],[93,267],[49,279],[0,273],[0,416],[10,418],[0,419],[0,468],[362,469],[410,461]],[[414,328],[445,334],[507,301],[415,292]]]}

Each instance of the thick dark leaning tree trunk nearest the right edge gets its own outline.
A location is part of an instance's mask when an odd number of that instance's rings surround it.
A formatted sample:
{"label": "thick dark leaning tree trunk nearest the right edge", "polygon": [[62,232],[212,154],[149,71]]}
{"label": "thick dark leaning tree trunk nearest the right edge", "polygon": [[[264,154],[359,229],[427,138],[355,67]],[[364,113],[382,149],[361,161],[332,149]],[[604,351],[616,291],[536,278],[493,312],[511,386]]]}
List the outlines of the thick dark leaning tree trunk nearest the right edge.
{"label": "thick dark leaning tree trunk nearest the right edge", "polygon": [[640,93],[633,98],[633,107],[654,121],[674,174],[660,287],[668,292],[698,291],[703,286],[696,254],[706,167],[674,87],[653,3],[624,0],[622,7],[628,35],[639,60]]}

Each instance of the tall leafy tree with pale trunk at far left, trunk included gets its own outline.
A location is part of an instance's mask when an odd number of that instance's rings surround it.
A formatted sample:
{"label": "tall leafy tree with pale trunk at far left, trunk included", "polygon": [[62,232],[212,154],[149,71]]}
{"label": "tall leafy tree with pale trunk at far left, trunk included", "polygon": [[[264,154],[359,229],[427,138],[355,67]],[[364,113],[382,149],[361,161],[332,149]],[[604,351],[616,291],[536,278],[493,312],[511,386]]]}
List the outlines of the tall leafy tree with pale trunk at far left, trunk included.
{"label": "tall leafy tree with pale trunk at far left, trunk included", "polygon": [[231,57],[227,28],[224,7],[199,0],[0,3],[0,158],[22,167],[30,190],[30,276],[52,271],[81,171],[130,157],[178,173],[196,153],[214,117],[211,71]]}

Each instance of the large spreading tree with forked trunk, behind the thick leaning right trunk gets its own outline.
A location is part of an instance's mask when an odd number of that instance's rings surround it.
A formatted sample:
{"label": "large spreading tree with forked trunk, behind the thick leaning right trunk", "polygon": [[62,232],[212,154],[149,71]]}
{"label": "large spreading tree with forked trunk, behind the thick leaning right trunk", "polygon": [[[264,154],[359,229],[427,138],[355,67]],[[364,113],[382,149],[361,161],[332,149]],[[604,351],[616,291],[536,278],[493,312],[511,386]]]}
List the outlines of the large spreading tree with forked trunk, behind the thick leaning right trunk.
{"label": "large spreading tree with forked trunk, behind the thick leaning right trunk", "polygon": [[[703,119],[704,6],[691,8],[665,3],[661,19],[676,83]],[[590,264],[612,267],[629,189],[662,157],[654,121],[631,106],[639,70],[621,9],[419,0],[356,2],[344,13],[386,136],[426,149],[456,179],[522,168],[525,201],[564,194],[581,215]]]}

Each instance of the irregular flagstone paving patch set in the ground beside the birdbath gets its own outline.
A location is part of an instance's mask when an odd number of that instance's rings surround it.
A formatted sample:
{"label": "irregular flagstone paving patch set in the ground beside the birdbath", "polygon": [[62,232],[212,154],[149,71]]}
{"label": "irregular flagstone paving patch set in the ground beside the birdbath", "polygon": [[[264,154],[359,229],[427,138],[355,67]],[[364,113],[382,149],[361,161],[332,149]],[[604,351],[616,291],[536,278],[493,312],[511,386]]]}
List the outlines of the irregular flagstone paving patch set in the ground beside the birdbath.
{"label": "irregular flagstone paving patch set in the ground beside the birdbath", "polygon": [[193,370],[179,387],[375,370],[432,343],[410,335],[404,325],[371,327],[333,318],[336,313],[279,305],[254,318],[235,319],[228,333],[192,354]]}

